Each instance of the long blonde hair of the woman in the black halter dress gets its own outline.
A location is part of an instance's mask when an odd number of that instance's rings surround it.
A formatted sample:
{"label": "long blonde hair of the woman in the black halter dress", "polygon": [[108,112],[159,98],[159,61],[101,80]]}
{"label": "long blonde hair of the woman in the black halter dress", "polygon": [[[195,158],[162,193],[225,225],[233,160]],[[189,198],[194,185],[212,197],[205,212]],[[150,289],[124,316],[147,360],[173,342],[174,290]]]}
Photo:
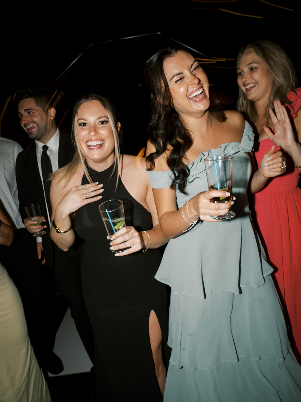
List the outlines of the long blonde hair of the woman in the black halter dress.
{"label": "long blonde hair of the woman in the black halter dress", "polygon": [[[118,119],[117,119],[117,113],[111,104],[111,101],[108,98],[105,98],[104,96],[97,95],[97,94],[87,94],[79,98],[77,102],[75,103],[73,107],[73,115],[72,115],[72,142],[75,147],[75,155],[73,156],[72,161],[64,166],[63,168],[57,170],[51,178],[54,176],[57,176],[57,174],[60,175],[59,181],[65,180],[67,183],[71,180],[71,178],[75,175],[75,173],[82,167],[84,170],[84,173],[89,181],[89,183],[93,183],[93,177],[91,176],[91,172],[89,171],[89,166],[86,163],[86,158],[83,153],[83,150],[81,148],[81,144],[79,143],[78,137],[77,137],[77,113],[79,111],[80,106],[85,103],[85,102],[91,102],[92,100],[97,100],[101,105],[105,108],[105,111],[108,114],[109,122],[111,123],[112,131],[113,131],[113,136],[114,136],[114,169],[117,169],[117,172],[119,172],[119,159],[120,159],[120,141],[121,141],[121,130],[119,130],[118,127]],[[112,174],[113,174],[112,172]],[[118,183],[118,174],[117,174],[117,181],[116,181],[116,187]]]}

